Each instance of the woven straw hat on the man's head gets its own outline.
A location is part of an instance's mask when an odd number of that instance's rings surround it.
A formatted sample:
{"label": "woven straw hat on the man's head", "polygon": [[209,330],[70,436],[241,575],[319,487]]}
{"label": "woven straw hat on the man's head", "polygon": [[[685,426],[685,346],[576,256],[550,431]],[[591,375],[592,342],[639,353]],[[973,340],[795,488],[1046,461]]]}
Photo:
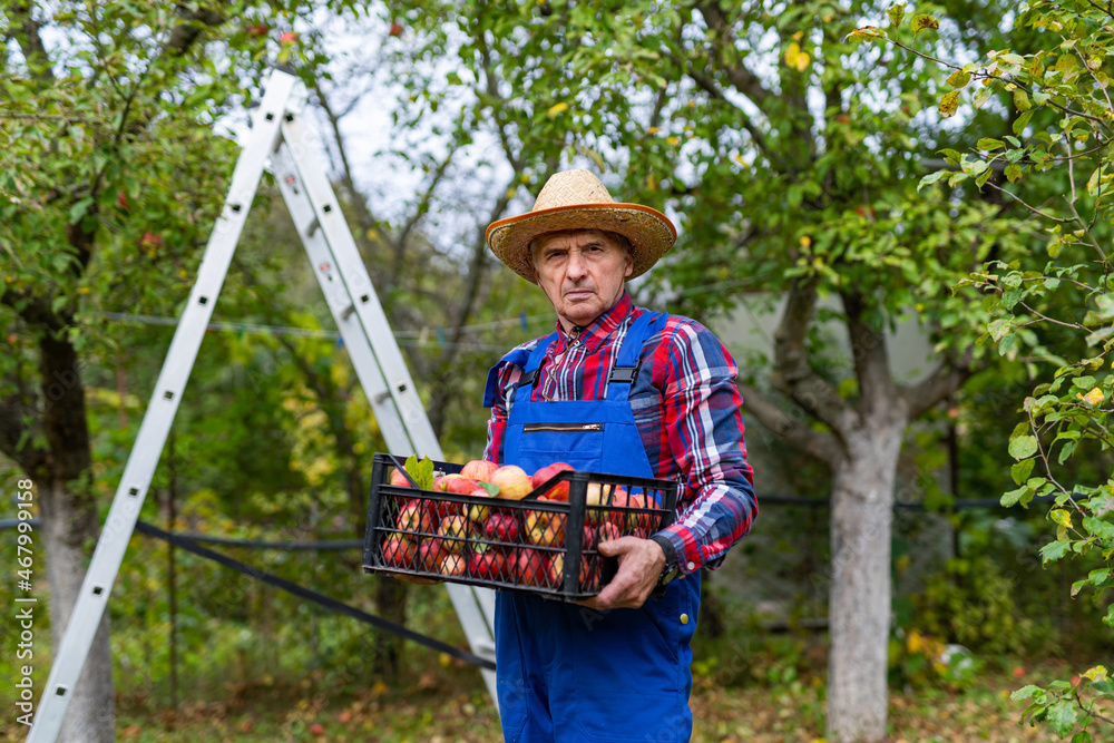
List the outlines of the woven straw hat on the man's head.
{"label": "woven straw hat on the man's head", "polygon": [[606,229],[625,235],[634,254],[631,278],[649,271],[677,238],[676,227],[657,209],[617,203],[588,170],[566,170],[546,182],[532,211],[492,222],[487,243],[496,257],[536,284],[530,241],[563,229]]}

